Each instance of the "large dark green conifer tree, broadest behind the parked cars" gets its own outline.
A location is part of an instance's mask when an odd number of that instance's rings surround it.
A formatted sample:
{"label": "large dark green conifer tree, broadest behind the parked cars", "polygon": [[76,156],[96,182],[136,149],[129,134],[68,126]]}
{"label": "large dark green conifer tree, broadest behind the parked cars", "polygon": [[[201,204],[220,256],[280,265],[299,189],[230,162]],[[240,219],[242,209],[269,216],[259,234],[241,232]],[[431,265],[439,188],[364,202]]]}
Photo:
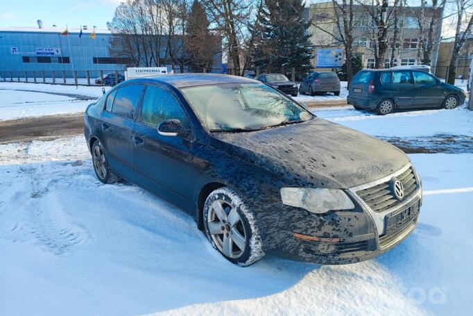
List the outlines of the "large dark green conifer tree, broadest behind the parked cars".
{"label": "large dark green conifer tree, broadest behind the parked cars", "polygon": [[284,72],[296,76],[310,72],[313,48],[299,0],[268,0],[261,17],[253,63],[264,72]]}

